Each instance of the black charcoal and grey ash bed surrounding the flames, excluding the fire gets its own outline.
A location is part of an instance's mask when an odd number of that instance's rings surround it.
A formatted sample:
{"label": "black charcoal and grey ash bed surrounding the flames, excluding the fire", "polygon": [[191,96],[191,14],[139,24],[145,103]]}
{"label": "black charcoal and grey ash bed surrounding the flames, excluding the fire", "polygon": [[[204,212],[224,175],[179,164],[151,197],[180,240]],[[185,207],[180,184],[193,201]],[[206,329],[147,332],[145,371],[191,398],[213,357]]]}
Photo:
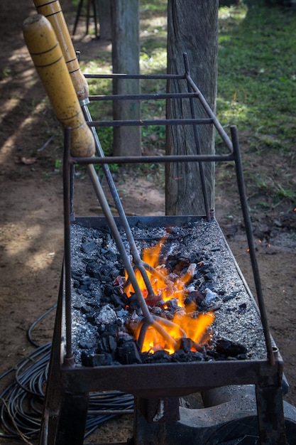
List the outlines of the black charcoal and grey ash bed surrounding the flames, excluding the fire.
{"label": "black charcoal and grey ash bed surrounding the flames, excluding the fire", "polygon": [[[71,229],[72,348],[75,363],[85,366],[130,363],[173,363],[199,360],[261,359],[266,357],[258,309],[239,274],[216,220],[185,221],[182,225],[151,227],[139,218],[131,227],[138,252],[168,235],[160,262],[170,273],[192,271],[187,283],[185,309],[214,311],[211,340],[197,352],[191,339],[182,338],[172,355],[163,350],[140,353],[131,326],[142,318],[135,296],[124,294],[124,265],[108,227]],[[126,235],[122,231],[129,255]],[[146,301],[153,315],[172,319],[180,308],[158,297]],[[167,307],[168,306],[168,307]]]}

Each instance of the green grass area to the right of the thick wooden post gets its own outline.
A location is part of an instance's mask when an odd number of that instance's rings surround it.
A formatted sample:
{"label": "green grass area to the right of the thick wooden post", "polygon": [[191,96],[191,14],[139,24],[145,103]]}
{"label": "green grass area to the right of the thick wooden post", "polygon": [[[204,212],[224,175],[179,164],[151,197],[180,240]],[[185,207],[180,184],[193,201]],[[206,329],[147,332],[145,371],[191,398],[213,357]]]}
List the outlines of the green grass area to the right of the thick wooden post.
{"label": "green grass area to the right of the thick wooden post", "polygon": [[[217,115],[226,129],[235,124],[243,134],[247,193],[255,207],[284,200],[295,205],[295,18],[296,11],[264,1],[219,9]],[[224,176],[218,166],[218,187]]]}

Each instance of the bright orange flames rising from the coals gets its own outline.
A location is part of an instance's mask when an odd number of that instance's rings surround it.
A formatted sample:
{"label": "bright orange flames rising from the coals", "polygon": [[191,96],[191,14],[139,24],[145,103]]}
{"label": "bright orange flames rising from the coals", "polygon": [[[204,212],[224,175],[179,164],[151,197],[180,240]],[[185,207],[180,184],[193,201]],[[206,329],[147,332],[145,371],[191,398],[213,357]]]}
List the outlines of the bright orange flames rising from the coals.
{"label": "bright orange flames rising from the coals", "polygon": [[[167,309],[168,305],[175,307],[175,315],[172,320],[168,321],[167,318],[160,316],[155,317],[165,333],[168,333],[168,338],[154,325],[143,327],[143,321],[137,326],[134,336],[138,340],[141,330],[146,328],[144,338],[141,339],[141,343],[143,343],[141,352],[154,353],[156,350],[166,350],[172,354],[180,348],[182,339],[184,343],[184,338],[187,339],[187,346],[188,343],[190,344],[189,349],[197,351],[209,340],[207,328],[214,321],[214,313],[199,313],[193,303],[185,305],[185,299],[189,293],[186,286],[194,276],[196,264],[190,264],[186,272],[183,273],[180,262],[173,272],[169,272],[165,264],[160,264],[160,252],[164,244],[165,238],[143,252],[143,262],[146,264],[148,279],[154,295],[148,295],[141,272],[136,269],[135,273],[148,306],[157,306],[160,303],[164,309]],[[124,291],[128,297],[134,293],[127,275]]]}

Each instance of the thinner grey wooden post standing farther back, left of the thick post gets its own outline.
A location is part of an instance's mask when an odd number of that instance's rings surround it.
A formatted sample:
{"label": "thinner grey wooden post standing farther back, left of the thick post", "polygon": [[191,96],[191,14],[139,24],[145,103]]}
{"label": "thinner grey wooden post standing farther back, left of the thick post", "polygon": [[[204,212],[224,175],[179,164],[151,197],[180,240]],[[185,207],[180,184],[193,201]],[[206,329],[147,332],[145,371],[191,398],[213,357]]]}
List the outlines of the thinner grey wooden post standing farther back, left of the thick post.
{"label": "thinner grey wooden post standing farther back, left of the thick post", "polygon": [[[112,63],[113,73],[139,73],[139,0],[112,0]],[[139,80],[116,79],[114,94],[138,94]],[[136,100],[113,102],[116,120],[140,119],[140,103]],[[114,127],[114,156],[141,155],[140,127]]]}

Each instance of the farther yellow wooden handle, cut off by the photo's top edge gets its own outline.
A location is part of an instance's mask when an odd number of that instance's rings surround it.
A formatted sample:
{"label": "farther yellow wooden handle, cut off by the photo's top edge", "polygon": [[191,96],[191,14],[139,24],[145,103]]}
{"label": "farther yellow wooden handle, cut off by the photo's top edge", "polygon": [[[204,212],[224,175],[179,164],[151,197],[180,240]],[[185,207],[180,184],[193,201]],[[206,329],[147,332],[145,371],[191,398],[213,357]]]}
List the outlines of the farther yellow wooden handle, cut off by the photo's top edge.
{"label": "farther yellow wooden handle, cut off by the photo's top edge", "polygon": [[77,92],[80,101],[86,101],[89,97],[89,89],[87,80],[80,70],[80,65],[77,60],[75,48],[73,46],[67,23],[65,21],[60,1],[58,0],[33,0],[38,14],[42,14],[51,23],[57,40],[60,43],[62,54],[64,55],[67,69],[70,73],[73,85]]}

